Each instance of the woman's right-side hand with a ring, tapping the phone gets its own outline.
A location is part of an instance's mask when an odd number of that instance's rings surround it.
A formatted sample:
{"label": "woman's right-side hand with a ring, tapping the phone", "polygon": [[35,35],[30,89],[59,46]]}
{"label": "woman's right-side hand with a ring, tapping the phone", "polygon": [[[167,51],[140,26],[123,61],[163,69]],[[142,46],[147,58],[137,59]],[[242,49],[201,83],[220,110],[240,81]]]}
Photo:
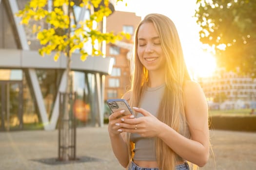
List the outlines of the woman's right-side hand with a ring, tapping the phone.
{"label": "woman's right-side hand with a ring, tapping the phone", "polygon": [[121,132],[137,133],[143,137],[158,136],[163,122],[142,108],[133,107],[133,109],[143,116],[135,119],[122,117],[116,124],[115,129],[117,128]]}

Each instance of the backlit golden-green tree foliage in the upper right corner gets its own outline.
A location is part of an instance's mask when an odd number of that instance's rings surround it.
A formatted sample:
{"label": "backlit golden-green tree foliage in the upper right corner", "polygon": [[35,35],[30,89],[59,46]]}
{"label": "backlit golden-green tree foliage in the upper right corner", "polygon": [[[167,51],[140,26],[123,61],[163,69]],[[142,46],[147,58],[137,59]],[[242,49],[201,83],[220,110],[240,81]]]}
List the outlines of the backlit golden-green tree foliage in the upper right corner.
{"label": "backlit golden-green tree foliage in the upper right corner", "polygon": [[256,1],[197,0],[200,41],[214,49],[217,65],[256,77]]}

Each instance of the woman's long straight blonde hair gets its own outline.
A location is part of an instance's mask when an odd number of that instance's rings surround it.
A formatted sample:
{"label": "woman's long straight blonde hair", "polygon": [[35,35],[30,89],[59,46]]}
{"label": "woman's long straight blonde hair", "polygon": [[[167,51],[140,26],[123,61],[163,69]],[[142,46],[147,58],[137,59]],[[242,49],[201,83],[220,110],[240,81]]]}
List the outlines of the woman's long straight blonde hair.
{"label": "woman's long straight blonde hair", "polygon": [[[190,80],[190,76],[185,64],[183,52],[173,21],[161,14],[149,14],[139,23],[135,33],[133,62],[134,70],[131,85],[131,95],[129,103],[131,106],[140,106],[141,94],[148,81],[148,70],[138,59],[138,29],[143,23],[154,24],[161,42],[161,48],[166,58],[165,65],[165,92],[160,102],[158,119],[174,130],[179,132],[180,121],[185,119],[183,84]],[[181,116],[180,116],[181,115]],[[128,138],[129,140],[129,138]],[[133,147],[133,145],[131,145]],[[132,153],[130,147],[130,153]],[[167,146],[162,140],[156,140],[156,152],[158,167],[161,170],[175,170],[177,154]]]}

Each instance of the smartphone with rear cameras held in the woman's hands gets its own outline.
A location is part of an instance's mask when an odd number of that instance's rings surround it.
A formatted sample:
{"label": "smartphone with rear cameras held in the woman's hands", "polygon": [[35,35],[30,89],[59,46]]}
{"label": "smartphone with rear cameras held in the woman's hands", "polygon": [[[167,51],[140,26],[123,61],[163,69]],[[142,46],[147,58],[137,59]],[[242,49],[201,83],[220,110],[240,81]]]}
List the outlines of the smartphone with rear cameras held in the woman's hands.
{"label": "smartphone with rear cameras held in the woman's hands", "polygon": [[131,107],[125,99],[109,99],[107,100],[107,105],[109,106],[112,113],[124,110],[124,115],[133,114]]}

